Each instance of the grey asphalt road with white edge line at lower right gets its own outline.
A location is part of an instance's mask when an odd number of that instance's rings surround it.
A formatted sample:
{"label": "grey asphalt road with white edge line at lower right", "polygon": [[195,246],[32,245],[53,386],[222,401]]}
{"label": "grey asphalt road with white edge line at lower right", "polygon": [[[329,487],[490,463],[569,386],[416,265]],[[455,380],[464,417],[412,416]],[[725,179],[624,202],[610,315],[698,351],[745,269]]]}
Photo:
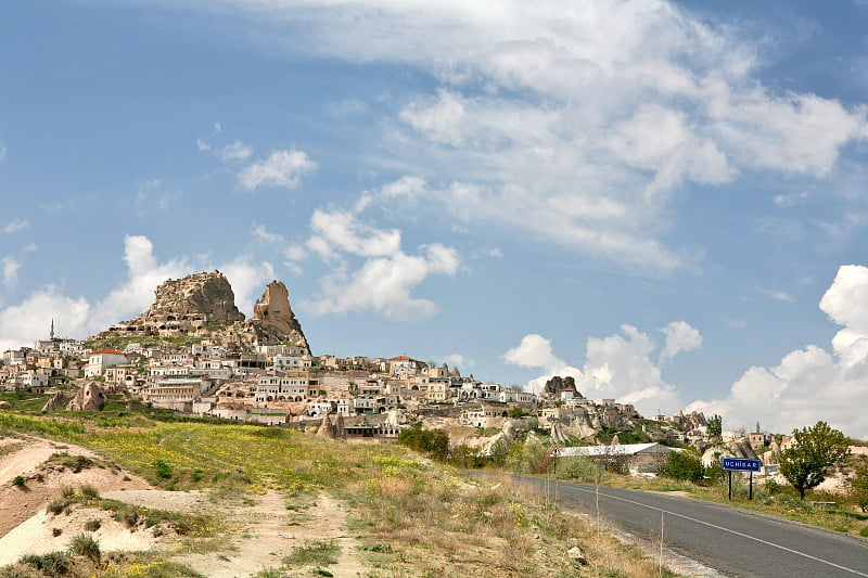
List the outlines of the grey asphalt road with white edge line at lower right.
{"label": "grey asphalt road with white edge line at lower right", "polygon": [[[597,515],[593,486],[516,476],[564,510]],[[599,488],[600,518],[639,540],[727,576],[868,578],[868,541],[741,510],[663,493]]]}

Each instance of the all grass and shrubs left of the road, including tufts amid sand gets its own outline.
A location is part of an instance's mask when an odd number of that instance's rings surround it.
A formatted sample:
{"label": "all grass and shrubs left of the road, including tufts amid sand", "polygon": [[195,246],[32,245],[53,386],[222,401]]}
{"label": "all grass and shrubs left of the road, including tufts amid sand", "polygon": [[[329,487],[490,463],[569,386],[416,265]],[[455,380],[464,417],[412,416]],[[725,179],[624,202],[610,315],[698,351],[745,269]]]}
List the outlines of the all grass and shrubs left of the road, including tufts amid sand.
{"label": "all grass and shrubs left of the road, including tufts amid sand", "polygon": [[[101,457],[88,463],[61,452],[51,459],[58,465],[118,467],[164,489],[202,490],[217,501],[243,502],[276,490],[286,497],[288,509],[303,513],[317,496],[328,493],[349,505],[350,531],[360,544],[352,554],[370,568],[368,578],[673,576],[660,561],[561,512],[529,489],[506,478],[471,480],[448,464],[455,458],[448,452],[438,454],[447,463],[427,458],[429,444],[443,450],[436,436],[416,434],[416,451],[396,444],[322,440],[290,428],[173,422],[135,403],[114,403],[108,411],[72,419],[64,413],[4,412],[0,429],[82,445]],[[112,425],[106,425],[108,419]],[[84,537],[76,536],[73,549],[22,558],[0,569],[0,577],[196,576],[173,555],[210,551],[219,556],[243,532],[232,521],[130,506],[86,486],[60,492],[49,509],[53,516],[73,509],[108,510],[137,531],[174,532],[189,541],[181,542],[180,552],[105,552],[91,535],[99,530],[98,516],[85,516],[88,527],[82,527]],[[335,543],[286,548],[263,577],[333,574],[329,568],[339,555]]]}

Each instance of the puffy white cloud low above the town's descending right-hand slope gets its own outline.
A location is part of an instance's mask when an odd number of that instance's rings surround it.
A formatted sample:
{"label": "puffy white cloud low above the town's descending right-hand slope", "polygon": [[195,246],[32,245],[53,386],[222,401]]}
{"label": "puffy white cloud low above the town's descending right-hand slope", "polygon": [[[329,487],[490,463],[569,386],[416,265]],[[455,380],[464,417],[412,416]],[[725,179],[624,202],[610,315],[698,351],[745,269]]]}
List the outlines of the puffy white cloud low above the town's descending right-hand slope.
{"label": "puffy white cloud low above the town's descending right-hand slope", "polygon": [[[622,403],[633,403],[646,413],[679,409],[678,389],[663,381],[659,364],[652,361],[658,347],[654,341],[631,325],[622,325],[621,330],[622,334],[589,337],[582,369],[558,358],[552,352],[551,341],[538,334],[525,335],[518,347],[503,354],[503,360],[542,371],[542,375],[527,384],[534,391],[540,390],[554,375],[570,375],[575,378],[579,391],[591,399],[614,398]],[[699,332],[682,321],[669,323],[661,331],[667,336],[664,351],[668,348],[669,357],[695,349],[702,342]]]}

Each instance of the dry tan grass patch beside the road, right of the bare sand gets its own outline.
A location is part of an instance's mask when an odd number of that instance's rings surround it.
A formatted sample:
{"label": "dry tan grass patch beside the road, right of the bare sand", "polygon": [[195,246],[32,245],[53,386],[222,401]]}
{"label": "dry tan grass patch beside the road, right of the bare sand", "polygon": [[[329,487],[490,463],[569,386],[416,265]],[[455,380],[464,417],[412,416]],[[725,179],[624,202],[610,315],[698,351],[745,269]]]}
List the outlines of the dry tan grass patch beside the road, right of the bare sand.
{"label": "dry tan grass patch beside the road, right of the bare sand", "polygon": [[[506,477],[478,484],[438,468],[403,474],[348,490],[370,577],[661,576],[655,561]],[[584,560],[569,553],[574,548]]]}

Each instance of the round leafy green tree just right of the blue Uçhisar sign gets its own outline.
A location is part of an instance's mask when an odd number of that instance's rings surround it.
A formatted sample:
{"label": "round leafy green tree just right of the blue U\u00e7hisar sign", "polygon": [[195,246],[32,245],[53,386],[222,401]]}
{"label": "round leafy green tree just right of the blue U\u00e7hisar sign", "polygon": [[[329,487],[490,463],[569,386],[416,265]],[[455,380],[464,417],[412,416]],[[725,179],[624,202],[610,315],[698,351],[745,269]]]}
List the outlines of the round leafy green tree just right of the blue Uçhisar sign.
{"label": "round leafy green tree just right of the blue U\u00e7hisar sign", "polygon": [[844,434],[826,422],[793,429],[793,437],[792,446],[781,454],[780,473],[804,500],[805,491],[819,486],[835,467],[846,462],[850,448]]}

